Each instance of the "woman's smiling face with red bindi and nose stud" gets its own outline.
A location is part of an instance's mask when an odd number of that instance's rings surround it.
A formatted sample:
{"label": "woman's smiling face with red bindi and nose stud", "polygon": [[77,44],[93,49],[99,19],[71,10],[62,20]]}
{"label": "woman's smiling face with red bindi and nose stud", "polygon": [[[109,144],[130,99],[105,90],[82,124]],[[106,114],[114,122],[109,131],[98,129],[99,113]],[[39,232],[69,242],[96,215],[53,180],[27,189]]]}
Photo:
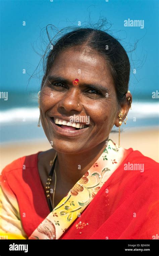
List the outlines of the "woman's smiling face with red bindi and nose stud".
{"label": "woman's smiling face with red bindi and nose stud", "polygon": [[[52,147],[73,154],[104,146],[118,116],[115,87],[104,58],[72,47],[58,55],[48,76],[54,78],[47,77],[42,85],[40,113]],[[75,79],[78,85],[73,85]],[[54,118],[69,121],[72,116],[87,122],[87,127],[71,132],[54,123]]]}

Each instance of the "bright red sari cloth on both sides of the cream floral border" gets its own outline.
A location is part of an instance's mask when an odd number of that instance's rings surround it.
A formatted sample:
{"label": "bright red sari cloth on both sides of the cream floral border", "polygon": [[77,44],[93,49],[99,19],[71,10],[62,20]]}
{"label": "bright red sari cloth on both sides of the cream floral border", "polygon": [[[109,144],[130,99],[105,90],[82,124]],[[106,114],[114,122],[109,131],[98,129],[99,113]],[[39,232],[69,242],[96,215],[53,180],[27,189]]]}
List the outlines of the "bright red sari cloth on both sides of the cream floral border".
{"label": "bright red sari cloth on both sides of the cream floral border", "polygon": [[[59,239],[158,239],[159,164],[132,148],[126,151],[124,161]],[[7,206],[1,200],[0,232],[14,233],[14,239],[28,239],[50,213],[38,173],[38,153],[21,157],[2,171],[1,195]],[[144,164],[144,172],[125,170],[128,163]],[[2,223],[10,224],[7,232]]]}

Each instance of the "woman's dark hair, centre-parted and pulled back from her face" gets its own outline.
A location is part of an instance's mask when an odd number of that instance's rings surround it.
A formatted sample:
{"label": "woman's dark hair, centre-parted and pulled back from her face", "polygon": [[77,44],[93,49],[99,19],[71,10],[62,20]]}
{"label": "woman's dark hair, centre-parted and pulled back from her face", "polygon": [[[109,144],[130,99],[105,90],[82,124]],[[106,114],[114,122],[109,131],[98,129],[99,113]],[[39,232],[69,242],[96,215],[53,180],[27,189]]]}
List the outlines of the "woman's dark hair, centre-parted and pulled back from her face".
{"label": "woman's dark hair, centre-parted and pulled back from her face", "polygon": [[[50,43],[52,44],[51,41]],[[46,57],[44,81],[58,54],[73,46],[90,48],[105,58],[115,85],[117,101],[119,104],[124,103],[129,83],[129,58],[122,45],[114,37],[101,30],[77,28],[58,39]]]}

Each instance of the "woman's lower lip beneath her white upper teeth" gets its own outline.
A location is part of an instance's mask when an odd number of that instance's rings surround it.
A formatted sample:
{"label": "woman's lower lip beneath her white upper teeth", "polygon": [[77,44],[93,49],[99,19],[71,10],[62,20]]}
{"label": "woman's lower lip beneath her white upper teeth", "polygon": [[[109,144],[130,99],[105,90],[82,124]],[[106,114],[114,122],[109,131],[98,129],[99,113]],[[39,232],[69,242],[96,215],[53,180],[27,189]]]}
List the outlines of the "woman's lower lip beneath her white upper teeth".
{"label": "woman's lower lip beneath her white upper teeth", "polygon": [[77,129],[75,127],[72,126],[67,126],[67,125],[62,125],[58,126],[57,124],[55,124],[54,120],[52,117],[50,117],[51,120],[51,124],[53,126],[54,131],[56,131],[58,134],[64,135],[64,136],[68,136],[68,137],[74,137],[74,136],[78,136],[81,135],[83,133],[85,133],[89,126],[83,129]]}

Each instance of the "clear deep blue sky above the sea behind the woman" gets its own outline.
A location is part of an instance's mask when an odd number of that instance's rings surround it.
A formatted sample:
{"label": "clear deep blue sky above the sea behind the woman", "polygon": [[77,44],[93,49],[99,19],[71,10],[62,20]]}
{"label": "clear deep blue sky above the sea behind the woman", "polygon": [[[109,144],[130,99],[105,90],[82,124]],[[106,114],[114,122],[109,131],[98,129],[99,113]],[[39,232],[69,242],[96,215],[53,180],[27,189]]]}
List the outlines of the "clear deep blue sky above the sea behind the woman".
{"label": "clear deep blue sky above the sea behind the woman", "polygon": [[[42,28],[48,24],[58,28],[78,26],[78,21],[86,25],[89,13],[93,22],[97,22],[100,15],[110,20],[111,32],[123,39],[121,44],[128,45],[126,50],[139,40],[137,49],[129,55],[131,68],[137,68],[135,75],[131,71],[130,91],[150,94],[158,89],[158,1],[0,0],[0,12],[1,91],[26,90],[28,79],[40,61],[35,50],[42,54]],[[144,29],[124,27],[124,20],[128,18],[144,20]],[[26,22],[25,26],[22,21]],[[43,38],[47,39],[46,33]],[[23,68],[26,74],[22,73]],[[28,92],[39,91],[42,75],[43,72],[38,73],[31,79]]]}

